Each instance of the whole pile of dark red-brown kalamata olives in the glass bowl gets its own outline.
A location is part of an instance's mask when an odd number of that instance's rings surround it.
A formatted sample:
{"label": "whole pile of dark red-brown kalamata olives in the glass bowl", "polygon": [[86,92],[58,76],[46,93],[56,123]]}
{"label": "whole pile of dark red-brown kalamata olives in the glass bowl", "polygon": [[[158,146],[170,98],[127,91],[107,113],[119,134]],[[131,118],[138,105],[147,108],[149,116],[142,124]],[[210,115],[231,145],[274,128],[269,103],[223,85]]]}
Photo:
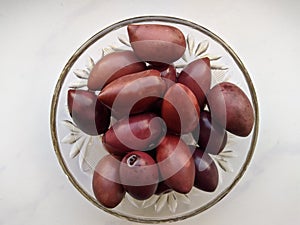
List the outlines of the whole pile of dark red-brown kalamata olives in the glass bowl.
{"label": "whole pile of dark red-brown kalamata olives in the glass bowl", "polygon": [[[177,73],[173,63],[186,49],[179,29],[132,24],[127,31],[132,50],[105,55],[90,73],[88,90],[68,91],[74,123],[100,135],[109,153],[93,174],[96,199],[113,208],[126,192],[146,200],[172,190],[186,194],[193,187],[215,191],[219,175],[210,154],[224,149],[227,132],[250,134],[249,99],[233,83],[211,88],[208,58]],[[186,143],[185,134],[197,144]]]}

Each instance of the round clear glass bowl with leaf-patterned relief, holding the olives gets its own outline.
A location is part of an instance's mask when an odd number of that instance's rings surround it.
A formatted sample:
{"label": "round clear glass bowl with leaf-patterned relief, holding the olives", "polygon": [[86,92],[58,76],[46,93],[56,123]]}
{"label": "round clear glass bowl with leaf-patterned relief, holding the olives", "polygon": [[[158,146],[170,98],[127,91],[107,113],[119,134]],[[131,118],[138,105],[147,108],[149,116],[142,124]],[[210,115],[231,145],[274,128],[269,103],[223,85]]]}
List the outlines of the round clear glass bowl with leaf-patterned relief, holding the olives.
{"label": "round clear glass bowl with leaf-patterned relief, holding the olives", "polygon": [[[73,122],[67,108],[70,88],[87,89],[87,78],[97,62],[113,51],[130,49],[129,24],[155,23],[179,28],[186,38],[186,51],[174,64],[177,72],[197,58],[209,57],[212,86],[229,81],[237,84],[248,96],[254,109],[254,127],[247,137],[228,133],[225,149],[212,155],[219,171],[219,184],[212,192],[193,188],[188,194],[169,192],[138,201],[126,194],[114,209],[102,206],[92,191],[93,170],[104,155],[101,136],[83,133]],[[141,223],[174,222],[197,215],[222,200],[245,173],[258,137],[258,102],[251,78],[236,53],[217,35],[193,22],[166,16],[143,16],[117,22],[87,40],[65,65],[54,90],[51,105],[51,134],[58,161],[72,185],[99,209],[130,221]],[[187,137],[189,138],[189,137]]]}

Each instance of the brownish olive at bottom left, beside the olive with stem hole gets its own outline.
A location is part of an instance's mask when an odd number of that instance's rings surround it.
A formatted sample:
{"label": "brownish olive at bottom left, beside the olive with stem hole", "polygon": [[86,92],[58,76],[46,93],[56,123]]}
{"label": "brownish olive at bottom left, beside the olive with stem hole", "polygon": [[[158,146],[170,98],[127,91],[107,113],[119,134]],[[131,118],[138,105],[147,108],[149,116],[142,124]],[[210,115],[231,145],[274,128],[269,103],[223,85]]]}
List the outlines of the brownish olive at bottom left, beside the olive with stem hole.
{"label": "brownish olive at bottom left, beside the olive with stem hole", "polygon": [[98,162],[93,174],[94,195],[107,208],[116,207],[125,195],[120,184],[119,167],[120,161],[112,155],[106,155]]}

